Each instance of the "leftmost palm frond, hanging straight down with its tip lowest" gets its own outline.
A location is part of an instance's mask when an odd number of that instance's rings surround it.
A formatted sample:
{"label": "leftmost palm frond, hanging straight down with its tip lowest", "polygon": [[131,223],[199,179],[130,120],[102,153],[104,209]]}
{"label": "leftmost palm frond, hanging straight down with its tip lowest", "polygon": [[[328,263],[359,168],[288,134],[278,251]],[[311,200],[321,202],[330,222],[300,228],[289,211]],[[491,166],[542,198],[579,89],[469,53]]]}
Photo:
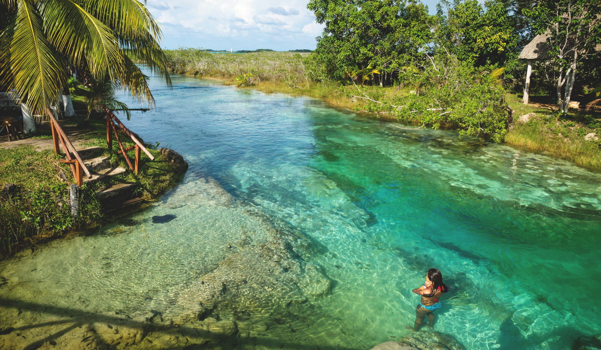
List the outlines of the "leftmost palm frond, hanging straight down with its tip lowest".
{"label": "leftmost palm frond, hanging straight down with its tip lowest", "polygon": [[[19,10],[10,30],[8,45],[10,88],[21,98],[27,96],[29,110],[43,114],[55,100],[56,91],[66,85],[66,64],[44,35],[40,14],[27,0],[19,0]],[[2,51],[6,52],[6,51]],[[4,75],[4,74],[3,74]]]}

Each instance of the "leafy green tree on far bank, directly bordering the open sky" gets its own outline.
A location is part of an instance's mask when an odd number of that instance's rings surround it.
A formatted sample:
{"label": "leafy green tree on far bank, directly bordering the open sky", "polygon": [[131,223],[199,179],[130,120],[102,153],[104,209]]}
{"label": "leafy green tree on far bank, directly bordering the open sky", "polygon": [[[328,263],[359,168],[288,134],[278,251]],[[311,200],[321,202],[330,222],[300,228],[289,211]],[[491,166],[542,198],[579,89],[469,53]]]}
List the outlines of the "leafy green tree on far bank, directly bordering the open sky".
{"label": "leafy green tree on far bank, directly bordering the open sky", "polygon": [[416,1],[311,0],[307,8],[326,25],[314,56],[335,79],[352,65],[394,71],[432,41],[427,7]]}

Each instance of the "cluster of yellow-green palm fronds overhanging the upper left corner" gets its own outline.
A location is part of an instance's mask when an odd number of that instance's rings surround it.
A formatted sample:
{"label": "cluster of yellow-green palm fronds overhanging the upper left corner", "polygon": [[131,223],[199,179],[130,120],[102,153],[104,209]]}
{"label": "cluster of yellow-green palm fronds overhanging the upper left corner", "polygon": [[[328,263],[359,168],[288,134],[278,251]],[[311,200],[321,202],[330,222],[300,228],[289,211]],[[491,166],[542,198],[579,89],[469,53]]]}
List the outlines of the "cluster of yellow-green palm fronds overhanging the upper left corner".
{"label": "cluster of yellow-green palm fronds overhanging the upper left corner", "polygon": [[136,0],[0,0],[0,83],[41,114],[67,88],[69,67],[153,104],[127,50],[169,83],[160,28]]}

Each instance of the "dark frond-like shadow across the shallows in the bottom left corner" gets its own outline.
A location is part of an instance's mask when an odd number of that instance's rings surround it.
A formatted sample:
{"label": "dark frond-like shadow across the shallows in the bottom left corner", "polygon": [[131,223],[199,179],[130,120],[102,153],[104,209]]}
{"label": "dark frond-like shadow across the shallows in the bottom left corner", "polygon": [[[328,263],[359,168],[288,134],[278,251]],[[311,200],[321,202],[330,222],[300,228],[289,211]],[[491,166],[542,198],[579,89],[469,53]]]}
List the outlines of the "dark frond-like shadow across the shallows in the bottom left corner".
{"label": "dark frond-like shadow across the shallows in the bottom left corner", "polygon": [[[50,345],[55,345],[56,340],[58,340],[61,336],[69,333],[75,328],[81,327],[93,327],[94,324],[106,324],[112,325],[115,327],[126,327],[130,329],[136,329],[143,331],[144,336],[142,340],[139,341],[141,343],[144,338],[148,335],[148,333],[162,333],[165,335],[174,334],[174,330],[187,339],[194,342],[195,339],[200,340],[197,344],[192,345],[175,345],[175,346],[167,346],[163,349],[210,349],[210,348],[223,348],[231,346],[231,348],[239,348],[240,346],[257,346],[261,345],[267,349],[281,349],[281,348],[289,348],[289,349],[320,349],[320,350],[359,350],[361,348],[347,348],[343,346],[329,346],[329,345],[308,345],[308,344],[300,344],[300,343],[291,343],[291,342],[282,342],[278,339],[273,339],[270,337],[249,337],[249,338],[240,338],[234,336],[226,337],[224,336],[215,336],[214,334],[210,334],[207,331],[203,331],[202,329],[192,328],[192,327],[171,327],[166,324],[148,324],[133,321],[132,319],[121,319],[116,316],[110,315],[101,315],[93,312],[86,312],[82,310],[70,309],[66,307],[53,307],[50,305],[38,304],[38,303],[30,303],[26,301],[14,300],[9,298],[0,298],[0,307],[4,307],[7,309],[17,309],[20,312],[23,311],[31,311],[31,312],[40,312],[60,317],[69,317],[70,319],[63,319],[59,321],[52,322],[42,322],[38,324],[25,325],[22,327],[8,327],[3,328],[0,331],[0,336],[10,334],[13,332],[23,331],[23,330],[31,330],[33,328],[38,327],[47,327],[51,325],[59,326],[61,324],[65,325],[65,328],[61,330],[54,331],[52,334],[48,334],[43,339],[37,340],[35,342],[29,343],[28,345],[23,346],[23,350],[34,350],[40,348],[45,343],[49,343]],[[109,327],[111,328],[111,327]],[[96,348],[99,349],[112,349],[114,346],[111,346],[105,340],[102,339],[95,331],[92,332],[93,335],[87,338],[84,338],[82,342],[90,342],[96,343]],[[23,339],[23,342],[26,340]]]}

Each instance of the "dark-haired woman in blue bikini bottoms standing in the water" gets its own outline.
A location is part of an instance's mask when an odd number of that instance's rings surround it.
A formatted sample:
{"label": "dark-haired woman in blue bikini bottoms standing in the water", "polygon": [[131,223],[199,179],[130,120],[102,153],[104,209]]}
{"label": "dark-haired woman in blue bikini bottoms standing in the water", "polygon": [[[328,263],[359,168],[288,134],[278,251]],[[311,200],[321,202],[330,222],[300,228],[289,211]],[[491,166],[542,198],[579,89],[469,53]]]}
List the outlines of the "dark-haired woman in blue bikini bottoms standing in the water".
{"label": "dark-haired woman in blue bikini bottoms standing in the water", "polygon": [[448,292],[447,286],[442,283],[441,271],[431,268],[426,274],[426,282],[424,285],[413,289],[413,293],[421,295],[421,303],[415,308],[415,325],[411,327],[407,325],[408,330],[418,331],[421,322],[428,315],[428,327],[434,328],[434,310],[439,309],[441,304],[441,295]]}

